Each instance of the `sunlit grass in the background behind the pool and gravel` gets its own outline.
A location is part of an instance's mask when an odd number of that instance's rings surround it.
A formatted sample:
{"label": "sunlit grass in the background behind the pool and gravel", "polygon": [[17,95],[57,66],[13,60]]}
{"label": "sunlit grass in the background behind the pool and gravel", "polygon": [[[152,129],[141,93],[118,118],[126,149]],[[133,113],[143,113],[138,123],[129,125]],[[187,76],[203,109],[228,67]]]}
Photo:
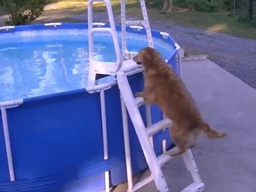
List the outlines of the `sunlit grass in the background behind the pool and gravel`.
{"label": "sunlit grass in the background behind the pool and gravel", "polygon": [[[120,0],[111,0],[112,9],[120,13]],[[67,16],[85,13],[88,0],[52,0],[45,9],[45,14],[66,14]],[[94,2],[95,11],[106,11],[104,3]],[[127,0],[127,15],[141,16],[136,0]],[[227,33],[234,36],[256,39],[256,28],[240,23],[225,13],[202,12],[167,12],[160,14],[159,10],[148,8],[150,20],[201,28],[209,31]],[[153,27],[154,28],[154,27]]]}

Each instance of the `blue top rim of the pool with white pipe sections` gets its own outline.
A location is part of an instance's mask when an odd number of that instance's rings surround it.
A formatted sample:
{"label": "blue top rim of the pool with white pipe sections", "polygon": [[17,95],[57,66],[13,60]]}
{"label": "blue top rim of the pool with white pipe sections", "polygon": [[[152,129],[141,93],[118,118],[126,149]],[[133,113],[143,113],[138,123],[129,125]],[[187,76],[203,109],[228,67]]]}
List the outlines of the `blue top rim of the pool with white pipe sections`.
{"label": "blue top rim of the pool with white pipe sections", "polygon": [[[59,29],[69,29],[69,30],[72,30],[72,29],[86,30],[86,29],[88,29],[88,23],[58,23],[57,25],[56,24],[57,23],[51,23],[50,26],[49,26],[49,23],[19,25],[19,26],[6,26],[5,28],[3,28],[0,31],[0,36],[1,36],[1,34],[22,32],[22,31],[28,32],[28,31],[39,31],[39,30],[55,31],[55,30],[59,30]],[[107,28],[107,27],[110,27],[110,24],[104,23],[104,26],[98,26],[98,27]],[[121,32],[121,28],[122,28],[121,25],[115,25],[115,27],[116,27],[117,32]],[[127,26],[126,31],[128,33],[133,33],[133,34],[138,34],[138,35],[146,35],[145,28],[143,28],[140,31],[137,31],[137,30],[131,29],[129,26]],[[161,39],[173,47],[174,51],[170,54],[170,56],[166,60],[167,63],[170,63],[171,60],[173,59],[173,57],[175,57],[176,54],[178,53],[180,46],[169,34],[167,34],[165,32],[151,30],[151,34],[152,34],[152,37]],[[177,62],[177,66],[178,66],[177,67],[178,71],[180,72],[180,61]],[[132,74],[139,73],[139,72],[142,72],[142,69],[131,71],[127,75],[132,75]],[[180,75],[180,73],[179,73],[179,75]],[[77,94],[77,93],[82,93],[84,91],[86,91],[88,93],[95,92],[95,91],[97,92],[97,91],[100,91],[101,89],[111,88],[112,86],[114,86],[116,84],[117,84],[117,81],[115,80],[113,82],[95,85],[92,87],[85,87],[85,88],[80,88],[80,89],[75,89],[75,90],[70,90],[70,91],[52,93],[52,94],[48,94],[48,95],[40,95],[40,96],[24,98],[24,99],[16,99],[16,100],[12,100],[12,101],[3,101],[3,102],[0,101],[0,108],[1,107],[13,108],[13,107],[17,107],[18,105],[21,105],[23,102],[33,102],[33,101],[38,101],[38,100],[45,100],[45,99],[49,99],[49,98],[60,97],[60,96],[64,96],[64,95],[73,95],[73,94]]]}

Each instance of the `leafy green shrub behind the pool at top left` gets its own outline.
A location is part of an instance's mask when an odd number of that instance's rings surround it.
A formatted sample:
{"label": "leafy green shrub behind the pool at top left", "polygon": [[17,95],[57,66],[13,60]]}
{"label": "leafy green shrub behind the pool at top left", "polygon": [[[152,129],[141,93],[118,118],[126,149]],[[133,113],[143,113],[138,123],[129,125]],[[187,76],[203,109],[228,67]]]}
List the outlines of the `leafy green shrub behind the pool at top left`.
{"label": "leafy green shrub behind the pool at top left", "polygon": [[0,7],[8,12],[11,25],[25,25],[42,15],[48,0],[0,0]]}

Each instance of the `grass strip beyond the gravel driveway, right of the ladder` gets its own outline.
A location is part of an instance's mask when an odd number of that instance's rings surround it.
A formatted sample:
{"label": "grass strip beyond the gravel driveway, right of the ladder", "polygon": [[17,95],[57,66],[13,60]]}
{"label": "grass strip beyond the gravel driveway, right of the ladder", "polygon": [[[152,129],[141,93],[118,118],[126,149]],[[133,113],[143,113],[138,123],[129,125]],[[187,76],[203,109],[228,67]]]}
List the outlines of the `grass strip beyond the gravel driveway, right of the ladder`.
{"label": "grass strip beyond the gravel driveway, right of the ladder", "polygon": [[149,9],[148,12],[153,20],[162,20],[183,26],[256,39],[256,28],[238,22],[225,13],[168,12],[161,15],[153,9]]}

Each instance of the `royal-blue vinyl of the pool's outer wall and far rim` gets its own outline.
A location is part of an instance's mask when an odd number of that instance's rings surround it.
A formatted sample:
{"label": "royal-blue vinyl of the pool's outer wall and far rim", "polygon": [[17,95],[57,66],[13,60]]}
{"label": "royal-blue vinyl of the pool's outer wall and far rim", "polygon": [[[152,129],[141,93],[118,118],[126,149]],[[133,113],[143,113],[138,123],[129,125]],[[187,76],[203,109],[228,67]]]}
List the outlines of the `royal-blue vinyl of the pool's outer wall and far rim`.
{"label": "royal-blue vinyl of the pool's outer wall and far rim", "polygon": [[[62,24],[58,29],[86,29],[87,24]],[[107,27],[107,25],[105,26]],[[53,30],[44,25],[17,26],[13,31]],[[117,26],[121,30],[121,26]],[[145,34],[145,31],[131,33]],[[3,33],[3,32],[2,32]],[[152,31],[155,37],[159,32]],[[171,38],[163,39],[174,46]],[[176,51],[168,63],[177,70]],[[133,93],[142,91],[142,73],[128,77]],[[0,118],[0,191],[60,192],[104,189],[104,172],[110,171],[111,185],[127,180],[122,128],[120,93],[117,85],[105,91],[109,159],[103,158],[99,93],[85,89],[24,99],[23,104],[7,109],[7,118],[16,181],[11,182]],[[162,112],[152,107],[152,121],[162,119]],[[139,108],[146,122],[145,107]],[[2,115],[2,114],[1,114]],[[135,176],[147,168],[136,133],[128,119]],[[162,141],[171,147],[168,130],[154,135],[154,150],[162,153]]]}

